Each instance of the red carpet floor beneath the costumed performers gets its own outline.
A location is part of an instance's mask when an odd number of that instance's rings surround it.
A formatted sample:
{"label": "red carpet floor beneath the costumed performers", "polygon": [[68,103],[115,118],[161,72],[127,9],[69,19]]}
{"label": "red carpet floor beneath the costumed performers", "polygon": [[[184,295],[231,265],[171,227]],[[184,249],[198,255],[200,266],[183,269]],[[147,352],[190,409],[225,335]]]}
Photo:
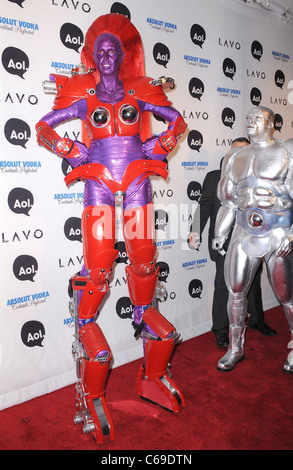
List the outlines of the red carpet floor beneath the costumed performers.
{"label": "red carpet floor beneath the costumed performers", "polygon": [[[0,412],[1,450],[292,450],[293,375],[282,371],[289,328],[281,307],[265,314],[278,334],[247,330],[246,359],[220,372],[224,354],[207,333],[177,346],[171,372],[187,407],[173,414],[141,400],[141,360],[114,369],[106,399],[116,440],[98,446],[75,425],[75,387]],[[177,452],[178,454],[178,452]]]}

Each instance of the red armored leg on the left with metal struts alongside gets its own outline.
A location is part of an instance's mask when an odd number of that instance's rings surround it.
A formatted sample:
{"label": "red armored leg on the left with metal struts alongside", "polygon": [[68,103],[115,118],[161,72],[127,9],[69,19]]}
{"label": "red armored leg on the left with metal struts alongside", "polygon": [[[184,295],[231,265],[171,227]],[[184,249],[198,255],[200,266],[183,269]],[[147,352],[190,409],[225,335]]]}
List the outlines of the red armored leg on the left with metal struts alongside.
{"label": "red armored leg on the left with metal struts alongside", "polygon": [[[109,208],[104,208],[105,213],[112,216]],[[84,432],[91,432],[102,444],[114,439],[113,423],[105,401],[105,384],[112,353],[102,330],[95,323],[95,317],[109,290],[108,279],[118,250],[112,249],[110,241],[103,238],[105,217],[100,215],[101,212],[99,216],[95,214],[93,207],[83,213],[84,259],[88,274],[74,276],[71,283],[75,316],[73,356],[77,373],[77,413],[74,421],[83,422]]]}

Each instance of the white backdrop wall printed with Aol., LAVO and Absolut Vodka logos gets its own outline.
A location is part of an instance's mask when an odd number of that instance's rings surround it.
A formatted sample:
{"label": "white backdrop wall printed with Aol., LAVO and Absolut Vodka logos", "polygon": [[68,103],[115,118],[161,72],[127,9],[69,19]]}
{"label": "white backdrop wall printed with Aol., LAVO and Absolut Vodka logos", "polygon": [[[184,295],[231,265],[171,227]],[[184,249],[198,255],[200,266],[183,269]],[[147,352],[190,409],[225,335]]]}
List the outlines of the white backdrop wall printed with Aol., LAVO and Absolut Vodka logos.
{"label": "white backdrop wall printed with Aol., LAVO and Absolut Vodka logos", "polygon": [[[50,73],[69,75],[79,65],[88,27],[109,12],[127,15],[139,30],[147,75],[175,79],[168,98],[188,123],[169,160],[167,181],[152,180],[159,280],[168,292],[160,310],[183,341],[211,328],[215,268],[207,229],[199,250],[187,244],[205,175],[218,168],[231,141],[245,135],[245,115],[254,105],[276,113],[275,137],[293,136],[290,24],[231,0],[2,0],[2,409],[75,381],[68,281],[83,265],[83,183],[66,187],[71,168],[37,145],[35,124],[54,101],[42,82]],[[166,128],[152,119],[154,133]],[[59,126],[58,132],[79,139],[80,123]],[[117,248],[110,295],[98,320],[113,351],[113,367],[142,357],[142,342],[134,339],[131,326],[119,212]],[[271,308],[276,300],[265,275],[263,285],[264,306]]]}

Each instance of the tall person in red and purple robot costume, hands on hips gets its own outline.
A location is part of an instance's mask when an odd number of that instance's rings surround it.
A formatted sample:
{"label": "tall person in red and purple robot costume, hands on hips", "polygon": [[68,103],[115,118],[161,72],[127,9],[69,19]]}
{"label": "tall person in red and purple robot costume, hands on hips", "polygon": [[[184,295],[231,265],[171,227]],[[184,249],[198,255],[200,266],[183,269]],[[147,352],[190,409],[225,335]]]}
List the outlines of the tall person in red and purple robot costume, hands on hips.
{"label": "tall person in red and purple robot costume, hands on hips", "polygon": [[[149,176],[167,177],[164,160],[186,124],[163,90],[174,85],[172,79],[145,76],[141,38],[127,17],[110,13],[97,18],[87,31],[81,61],[70,77],[50,76],[57,91],[53,111],[41,118],[36,130],[38,143],[73,168],[66,184],[77,179],[85,182],[84,266],[71,279],[77,318],[75,422],[83,422],[84,432],[92,432],[103,443],[114,439],[105,401],[112,354],[96,319],[118,255],[114,248],[115,201],[123,201],[133,326],[135,336],[143,337],[138,393],[177,413],[185,406],[167,368],[178,334],[154,300],[158,267]],[[169,123],[159,136],[150,134],[151,114]],[[73,118],[82,121],[82,142],[62,138],[54,130]]]}

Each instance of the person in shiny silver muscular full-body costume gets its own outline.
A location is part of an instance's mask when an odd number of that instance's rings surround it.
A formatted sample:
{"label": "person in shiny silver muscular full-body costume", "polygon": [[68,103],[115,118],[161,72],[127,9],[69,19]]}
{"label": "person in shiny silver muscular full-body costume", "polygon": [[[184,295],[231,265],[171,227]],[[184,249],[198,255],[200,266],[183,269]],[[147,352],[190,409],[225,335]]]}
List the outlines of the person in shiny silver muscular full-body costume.
{"label": "person in shiny silver muscular full-body costume", "polygon": [[[233,229],[225,261],[229,290],[229,348],[217,368],[231,371],[244,359],[247,292],[261,260],[282,304],[293,348],[293,139],[273,138],[274,113],[254,107],[246,117],[251,144],[225,156],[218,185],[213,248],[221,250]],[[283,370],[293,373],[293,350]]]}

